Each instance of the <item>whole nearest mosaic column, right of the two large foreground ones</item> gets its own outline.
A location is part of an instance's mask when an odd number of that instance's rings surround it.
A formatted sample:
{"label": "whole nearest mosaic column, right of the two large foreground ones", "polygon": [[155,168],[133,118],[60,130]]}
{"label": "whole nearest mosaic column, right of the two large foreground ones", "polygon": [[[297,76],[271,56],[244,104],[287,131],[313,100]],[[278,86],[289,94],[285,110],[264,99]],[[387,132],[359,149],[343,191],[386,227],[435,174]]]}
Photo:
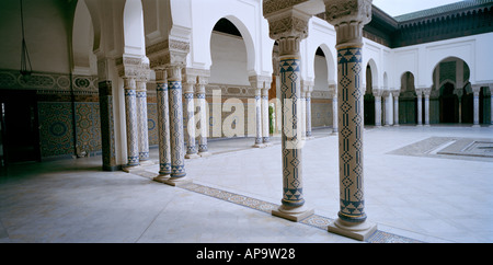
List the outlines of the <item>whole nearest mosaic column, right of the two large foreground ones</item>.
{"label": "whole nearest mosaic column, right of the two large foreground ones", "polygon": [[325,18],[334,25],[339,81],[339,218],[329,231],[366,240],[377,226],[367,221],[364,192],[363,26],[371,20],[371,1],[324,0]]}

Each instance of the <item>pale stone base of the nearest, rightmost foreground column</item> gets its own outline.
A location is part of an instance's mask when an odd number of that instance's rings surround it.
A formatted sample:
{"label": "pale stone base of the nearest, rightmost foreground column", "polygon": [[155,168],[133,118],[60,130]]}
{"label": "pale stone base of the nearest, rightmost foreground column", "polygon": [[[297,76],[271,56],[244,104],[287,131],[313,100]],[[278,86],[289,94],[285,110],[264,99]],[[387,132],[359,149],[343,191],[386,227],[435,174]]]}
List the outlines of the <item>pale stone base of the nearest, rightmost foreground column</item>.
{"label": "pale stone base of the nearest, rightmost foreground column", "polygon": [[377,224],[368,221],[351,223],[337,218],[334,222],[329,224],[328,231],[351,239],[365,241],[377,231]]}

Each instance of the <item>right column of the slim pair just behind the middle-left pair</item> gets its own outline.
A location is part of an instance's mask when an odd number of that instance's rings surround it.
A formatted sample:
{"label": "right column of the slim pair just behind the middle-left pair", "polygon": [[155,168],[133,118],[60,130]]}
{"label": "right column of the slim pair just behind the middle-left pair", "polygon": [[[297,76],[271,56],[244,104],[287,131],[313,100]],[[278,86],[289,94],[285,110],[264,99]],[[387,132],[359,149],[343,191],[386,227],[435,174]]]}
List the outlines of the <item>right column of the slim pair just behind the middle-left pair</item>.
{"label": "right column of the slim pair just behind the middle-left pair", "polygon": [[195,87],[195,96],[197,97],[198,105],[198,117],[199,117],[199,129],[200,134],[198,134],[198,155],[200,157],[209,157],[210,153],[207,148],[207,136],[209,134],[208,129],[208,120],[207,120],[207,102],[205,100],[205,87],[207,84],[207,76],[199,74],[197,77],[197,84]]}

